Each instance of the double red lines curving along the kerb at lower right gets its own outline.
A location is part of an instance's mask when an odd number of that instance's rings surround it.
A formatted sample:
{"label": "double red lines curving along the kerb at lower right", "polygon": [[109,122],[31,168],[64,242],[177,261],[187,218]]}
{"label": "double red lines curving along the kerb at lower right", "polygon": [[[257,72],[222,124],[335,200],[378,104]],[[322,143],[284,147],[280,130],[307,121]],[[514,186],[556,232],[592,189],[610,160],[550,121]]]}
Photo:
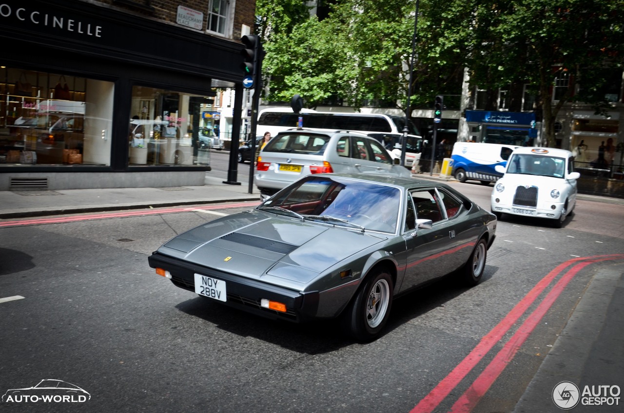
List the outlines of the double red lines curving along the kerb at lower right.
{"label": "double red lines curving along the kerb at lower right", "polygon": [[462,394],[451,408],[451,412],[470,412],[480,401],[492,386],[492,383],[499,377],[500,373],[505,369],[507,364],[514,358],[515,353],[520,346],[529,338],[530,333],[539,324],[540,320],[547,313],[548,309],[557,300],[563,289],[570,280],[585,268],[585,266],[607,260],[623,260],[624,254],[598,255],[582,258],[574,258],[558,265],[554,270],[550,271],[547,276],[542,278],[535,287],[527,293],[526,296],[495,326],[492,331],[487,333],[477,344],[470,354],[464,358],[434,389],[427,394],[410,413],[430,413],[457,387],[466,375],[472,371],[479,361],[487,352],[494,347],[496,343],[503,338],[505,334],[512,328],[514,323],[529,309],[540,294],[548,287],[552,280],[560,275],[566,268],[573,265],[565,275],[553,286],[548,294],[544,297],[537,308],[527,317],[522,325],[517,329],[516,333],[507,343],[500,349],[490,364],[485,367],[484,371],[475,379],[470,387]]}

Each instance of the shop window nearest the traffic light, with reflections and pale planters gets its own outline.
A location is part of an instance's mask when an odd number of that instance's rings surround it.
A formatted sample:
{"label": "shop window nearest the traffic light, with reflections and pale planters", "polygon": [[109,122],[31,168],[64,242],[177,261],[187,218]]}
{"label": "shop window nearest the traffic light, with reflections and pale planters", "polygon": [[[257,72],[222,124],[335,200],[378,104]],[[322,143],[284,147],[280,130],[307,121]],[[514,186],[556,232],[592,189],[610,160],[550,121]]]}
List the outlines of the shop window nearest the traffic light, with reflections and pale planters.
{"label": "shop window nearest the traffic light, with reflections and pale planters", "polygon": [[212,99],[134,86],[128,132],[130,166],[210,164],[209,150],[219,143],[219,119],[207,101]]}

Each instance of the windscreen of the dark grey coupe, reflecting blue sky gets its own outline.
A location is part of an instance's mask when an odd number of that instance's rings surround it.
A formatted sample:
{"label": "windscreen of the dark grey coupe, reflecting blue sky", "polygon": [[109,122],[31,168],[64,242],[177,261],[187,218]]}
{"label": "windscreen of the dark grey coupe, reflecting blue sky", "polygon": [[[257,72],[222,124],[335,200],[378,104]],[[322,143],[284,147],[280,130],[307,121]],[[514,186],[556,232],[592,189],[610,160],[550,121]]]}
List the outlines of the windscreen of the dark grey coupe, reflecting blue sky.
{"label": "windscreen of the dark grey coupe, reflecting blue sky", "polygon": [[308,177],[281,190],[259,210],[346,228],[395,233],[401,191],[373,182]]}

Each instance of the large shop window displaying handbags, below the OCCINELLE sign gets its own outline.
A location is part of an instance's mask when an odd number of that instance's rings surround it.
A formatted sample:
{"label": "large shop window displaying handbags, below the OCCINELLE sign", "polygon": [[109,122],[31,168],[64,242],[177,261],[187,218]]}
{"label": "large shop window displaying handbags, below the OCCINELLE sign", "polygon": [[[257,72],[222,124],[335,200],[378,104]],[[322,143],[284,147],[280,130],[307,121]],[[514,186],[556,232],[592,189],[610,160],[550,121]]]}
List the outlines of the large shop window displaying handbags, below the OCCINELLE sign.
{"label": "large shop window displaying handbags, below the OCCINELLE sign", "polygon": [[114,84],[0,69],[0,165],[110,165]]}

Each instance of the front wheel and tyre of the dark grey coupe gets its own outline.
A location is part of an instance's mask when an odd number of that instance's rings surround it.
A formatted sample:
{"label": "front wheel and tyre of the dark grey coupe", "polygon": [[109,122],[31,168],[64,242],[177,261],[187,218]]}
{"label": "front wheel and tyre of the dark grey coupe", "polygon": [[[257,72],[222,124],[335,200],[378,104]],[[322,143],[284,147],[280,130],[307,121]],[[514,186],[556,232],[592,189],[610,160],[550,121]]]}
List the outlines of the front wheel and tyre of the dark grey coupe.
{"label": "front wheel and tyre of the dark grey coupe", "polygon": [[343,326],[359,341],[372,341],[383,330],[390,309],[394,286],[392,277],[381,268],[371,271],[351,303],[344,309]]}

